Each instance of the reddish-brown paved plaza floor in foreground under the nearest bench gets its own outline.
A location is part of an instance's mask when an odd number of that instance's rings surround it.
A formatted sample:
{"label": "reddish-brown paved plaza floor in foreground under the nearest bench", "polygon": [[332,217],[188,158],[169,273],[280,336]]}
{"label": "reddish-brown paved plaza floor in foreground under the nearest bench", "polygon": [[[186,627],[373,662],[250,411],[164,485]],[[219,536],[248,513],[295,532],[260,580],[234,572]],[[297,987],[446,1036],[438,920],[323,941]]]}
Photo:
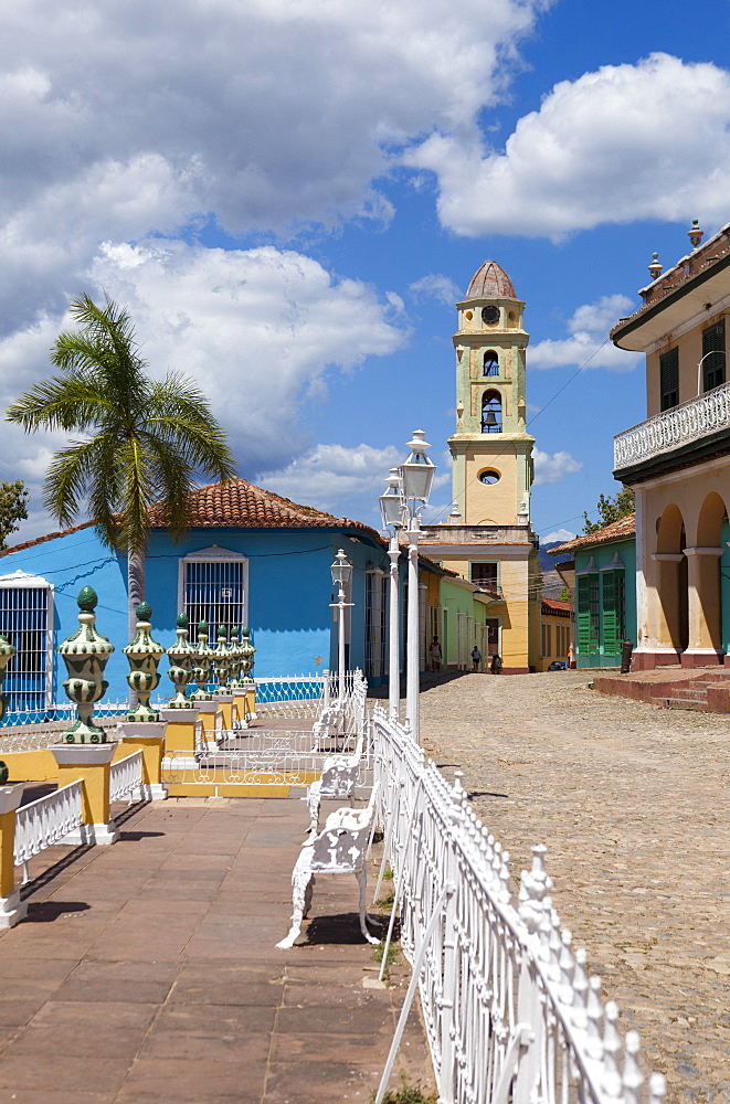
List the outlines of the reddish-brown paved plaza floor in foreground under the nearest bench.
{"label": "reddish-brown paved plaza floor in foreground under the nearest bench", "polygon": [[[115,811],[114,846],[34,860],[28,920],[0,933],[0,1102],[369,1101],[409,973],[372,987],[349,877],[318,877],[297,945],[276,949],[306,806],[191,798]],[[417,1015],[399,1065],[431,1084]]]}

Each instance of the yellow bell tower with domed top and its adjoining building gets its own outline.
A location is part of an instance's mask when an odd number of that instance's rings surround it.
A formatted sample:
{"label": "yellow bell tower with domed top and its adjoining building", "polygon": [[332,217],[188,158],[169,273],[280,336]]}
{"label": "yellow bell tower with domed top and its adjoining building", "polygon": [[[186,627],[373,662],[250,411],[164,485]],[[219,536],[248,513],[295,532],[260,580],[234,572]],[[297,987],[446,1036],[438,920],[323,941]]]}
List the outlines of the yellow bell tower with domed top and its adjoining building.
{"label": "yellow bell tower with domed top and its adjoining building", "polygon": [[539,652],[540,573],[530,529],[525,302],[487,261],[456,309],[456,428],[448,438],[455,506],[445,524],[424,526],[421,548],[490,592],[483,650],[501,656],[505,673],[527,672]]}

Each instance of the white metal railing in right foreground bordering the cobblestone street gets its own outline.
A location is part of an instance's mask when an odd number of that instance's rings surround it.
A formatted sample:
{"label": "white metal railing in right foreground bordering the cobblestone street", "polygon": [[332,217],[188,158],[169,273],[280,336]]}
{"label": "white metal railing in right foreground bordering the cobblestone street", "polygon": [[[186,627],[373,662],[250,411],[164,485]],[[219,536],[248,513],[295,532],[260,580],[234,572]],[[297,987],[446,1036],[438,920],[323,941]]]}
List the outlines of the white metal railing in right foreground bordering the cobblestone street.
{"label": "white metal railing in right foreground bordering the cobblestone street", "polygon": [[[400,910],[438,1100],[638,1104],[638,1036],[631,1031],[622,1041],[615,1005],[604,1007],[585,952],[574,952],[560,927],[546,849],[532,849],[532,870],[522,873],[516,898],[509,856],[477,820],[459,776],[449,786],[380,707],[372,726],[383,862],[394,873],[389,938]],[[393,1058],[394,1050],[377,1101]],[[655,1074],[649,1101],[658,1104],[664,1093]]]}

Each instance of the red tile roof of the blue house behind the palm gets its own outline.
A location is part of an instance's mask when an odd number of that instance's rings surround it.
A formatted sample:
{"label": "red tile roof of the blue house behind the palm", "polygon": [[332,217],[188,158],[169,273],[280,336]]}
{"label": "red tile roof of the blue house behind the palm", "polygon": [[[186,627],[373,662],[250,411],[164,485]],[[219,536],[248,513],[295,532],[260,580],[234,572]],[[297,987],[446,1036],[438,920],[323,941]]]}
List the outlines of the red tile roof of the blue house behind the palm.
{"label": "red tile roof of the blue house behind the palm", "polygon": [[[335,514],[315,510],[311,506],[299,506],[241,478],[209,484],[192,491],[189,518],[189,529],[357,529],[381,541],[379,533],[361,521],[336,518]],[[165,514],[160,507],[152,507],[150,510],[150,522],[154,529],[165,527]],[[33,541],[6,549],[0,552],[0,558],[22,552],[44,541],[53,541],[57,537],[66,537],[93,524],[93,521],[84,521],[72,529],[36,537]]]}

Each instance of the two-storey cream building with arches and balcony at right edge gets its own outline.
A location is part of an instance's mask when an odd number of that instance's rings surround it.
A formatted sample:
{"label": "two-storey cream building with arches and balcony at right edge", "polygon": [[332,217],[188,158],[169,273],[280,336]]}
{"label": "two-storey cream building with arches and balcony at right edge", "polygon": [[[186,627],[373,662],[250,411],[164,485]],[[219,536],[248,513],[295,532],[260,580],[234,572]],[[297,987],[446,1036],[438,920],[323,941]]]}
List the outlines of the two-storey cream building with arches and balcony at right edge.
{"label": "two-storey cream building with arches and balcony at right edge", "polygon": [[730,225],[664,272],[611,331],[646,353],[647,420],[614,440],[614,476],[636,492],[634,668],[722,664],[730,651]]}

